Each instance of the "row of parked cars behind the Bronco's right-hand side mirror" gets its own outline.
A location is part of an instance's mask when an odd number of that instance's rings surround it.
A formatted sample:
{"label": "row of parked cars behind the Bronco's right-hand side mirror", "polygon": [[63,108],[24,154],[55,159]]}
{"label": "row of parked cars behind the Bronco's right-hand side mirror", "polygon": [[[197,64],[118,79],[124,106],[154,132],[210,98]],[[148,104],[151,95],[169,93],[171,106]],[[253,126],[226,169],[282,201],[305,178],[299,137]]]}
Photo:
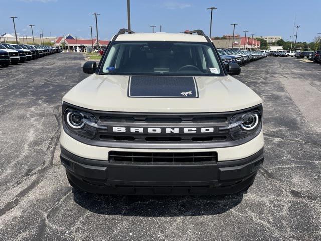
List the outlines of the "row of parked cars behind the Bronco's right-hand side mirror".
{"label": "row of parked cars behind the Bronco's right-hand side mirror", "polygon": [[237,63],[241,65],[267,56],[266,53],[239,49],[217,49],[217,51],[224,65],[229,63]]}

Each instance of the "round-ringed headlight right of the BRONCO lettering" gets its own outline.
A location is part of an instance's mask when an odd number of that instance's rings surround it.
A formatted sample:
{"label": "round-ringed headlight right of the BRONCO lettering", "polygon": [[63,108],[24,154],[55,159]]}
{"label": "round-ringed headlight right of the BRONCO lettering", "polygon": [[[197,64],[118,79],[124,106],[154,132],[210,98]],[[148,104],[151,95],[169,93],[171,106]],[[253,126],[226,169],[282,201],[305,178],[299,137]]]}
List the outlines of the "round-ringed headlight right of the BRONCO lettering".
{"label": "round-ringed headlight right of the BRONCO lettering", "polygon": [[228,130],[233,140],[241,139],[254,134],[261,128],[262,116],[259,110],[243,112],[234,115],[226,127],[219,130]]}

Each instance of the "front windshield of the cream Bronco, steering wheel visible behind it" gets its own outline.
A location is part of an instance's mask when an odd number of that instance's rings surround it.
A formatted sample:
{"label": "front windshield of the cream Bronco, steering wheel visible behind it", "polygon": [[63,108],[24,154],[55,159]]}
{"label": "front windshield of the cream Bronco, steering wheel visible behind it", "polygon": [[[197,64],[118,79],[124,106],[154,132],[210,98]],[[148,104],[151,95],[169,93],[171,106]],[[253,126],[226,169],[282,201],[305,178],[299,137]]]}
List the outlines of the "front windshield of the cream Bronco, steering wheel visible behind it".
{"label": "front windshield of the cream Bronco, steering wheel visible behind it", "polygon": [[102,66],[116,75],[224,75],[211,43],[115,42]]}

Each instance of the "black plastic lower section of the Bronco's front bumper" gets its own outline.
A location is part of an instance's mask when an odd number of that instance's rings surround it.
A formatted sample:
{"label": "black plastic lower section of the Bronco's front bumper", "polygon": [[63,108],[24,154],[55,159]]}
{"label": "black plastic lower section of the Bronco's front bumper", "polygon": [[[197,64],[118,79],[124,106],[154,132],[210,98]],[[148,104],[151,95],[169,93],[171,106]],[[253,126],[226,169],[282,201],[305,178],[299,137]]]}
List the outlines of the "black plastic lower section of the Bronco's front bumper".
{"label": "black plastic lower section of the Bronco's front bumper", "polygon": [[61,147],[73,186],[90,193],[135,195],[232,194],[254,182],[263,148],[254,155],[210,164],[111,163],[76,156]]}

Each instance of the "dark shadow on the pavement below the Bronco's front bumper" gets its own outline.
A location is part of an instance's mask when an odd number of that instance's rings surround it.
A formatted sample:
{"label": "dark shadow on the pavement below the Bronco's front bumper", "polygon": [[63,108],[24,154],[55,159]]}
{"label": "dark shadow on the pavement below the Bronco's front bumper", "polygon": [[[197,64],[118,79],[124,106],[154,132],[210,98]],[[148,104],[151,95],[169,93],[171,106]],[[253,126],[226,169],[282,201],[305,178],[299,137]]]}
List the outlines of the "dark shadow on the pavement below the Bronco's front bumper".
{"label": "dark shadow on the pavement below the Bronco's front bumper", "polygon": [[97,214],[174,217],[224,213],[237,206],[243,193],[220,196],[130,196],[98,195],[72,190],[74,201]]}

